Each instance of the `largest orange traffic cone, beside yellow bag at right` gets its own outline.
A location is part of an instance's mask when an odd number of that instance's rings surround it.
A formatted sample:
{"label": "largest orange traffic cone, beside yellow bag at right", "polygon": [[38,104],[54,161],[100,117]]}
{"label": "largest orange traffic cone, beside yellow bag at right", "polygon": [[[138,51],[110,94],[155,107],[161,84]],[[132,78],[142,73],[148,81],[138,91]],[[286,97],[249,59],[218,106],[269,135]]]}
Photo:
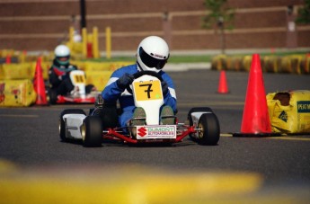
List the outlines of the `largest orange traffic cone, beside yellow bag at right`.
{"label": "largest orange traffic cone, beside yellow bag at right", "polygon": [[261,60],[258,54],[252,55],[252,64],[245,96],[241,133],[234,133],[233,136],[279,136],[278,133],[272,133],[271,131],[266,93],[261,72]]}

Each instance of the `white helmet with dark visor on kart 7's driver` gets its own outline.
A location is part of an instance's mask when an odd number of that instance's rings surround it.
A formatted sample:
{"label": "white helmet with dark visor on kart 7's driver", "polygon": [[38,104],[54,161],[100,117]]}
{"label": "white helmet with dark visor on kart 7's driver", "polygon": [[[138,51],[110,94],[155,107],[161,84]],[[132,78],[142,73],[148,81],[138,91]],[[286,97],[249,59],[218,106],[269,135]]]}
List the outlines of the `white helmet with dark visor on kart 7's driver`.
{"label": "white helmet with dark visor on kart 7's driver", "polygon": [[144,71],[158,73],[169,58],[169,47],[164,39],[149,36],[137,47],[137,64]]}

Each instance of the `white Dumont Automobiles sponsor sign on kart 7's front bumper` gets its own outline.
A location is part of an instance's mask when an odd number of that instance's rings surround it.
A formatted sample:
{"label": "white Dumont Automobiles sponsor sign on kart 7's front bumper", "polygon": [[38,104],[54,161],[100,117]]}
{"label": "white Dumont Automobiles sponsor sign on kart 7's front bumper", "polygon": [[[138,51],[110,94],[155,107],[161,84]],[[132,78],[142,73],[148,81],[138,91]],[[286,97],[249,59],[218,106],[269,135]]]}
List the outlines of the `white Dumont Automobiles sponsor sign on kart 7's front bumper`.
{"label": "white Dumont Automobiles sponsor sign on kart 7's front bumper", "polygon": [[137,139],[176,138],[176,125],[137,126]]}

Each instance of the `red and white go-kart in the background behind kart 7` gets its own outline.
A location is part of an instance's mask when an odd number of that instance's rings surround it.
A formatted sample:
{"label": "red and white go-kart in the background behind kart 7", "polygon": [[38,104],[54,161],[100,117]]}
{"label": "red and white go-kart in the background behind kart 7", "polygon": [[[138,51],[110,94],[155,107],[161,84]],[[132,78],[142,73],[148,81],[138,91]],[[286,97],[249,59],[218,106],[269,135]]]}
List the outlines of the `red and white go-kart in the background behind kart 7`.
{"label": "red and white go-kart in the background behind kart 7", "polygon": [[75,94],[58,95],[55,90],[49,89],[49,103],[94,103],[97,91],[93,84],[86,84],[85,74],[82,70],[74,70],[69,74],[72,84],[75,86]]}

